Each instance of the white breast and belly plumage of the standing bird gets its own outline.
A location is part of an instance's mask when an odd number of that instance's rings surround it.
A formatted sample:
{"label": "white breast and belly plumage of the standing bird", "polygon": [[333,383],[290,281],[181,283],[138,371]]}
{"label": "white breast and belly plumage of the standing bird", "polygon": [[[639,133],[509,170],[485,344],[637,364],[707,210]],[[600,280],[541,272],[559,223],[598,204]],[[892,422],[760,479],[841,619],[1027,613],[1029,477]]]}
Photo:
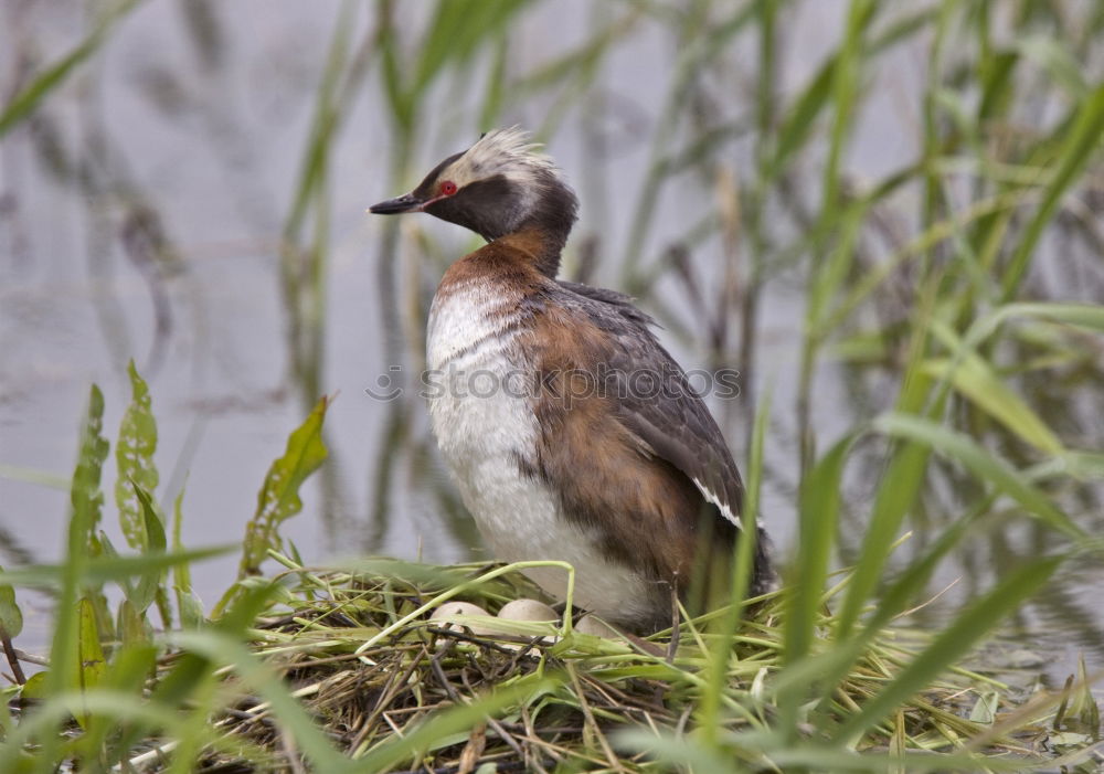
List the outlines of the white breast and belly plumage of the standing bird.
{"label": "white breast and belly plumage of the standing bird", "polygon": [[[434,298],[426,360],[437,444],[496,559],[571,562],[575,604],[615,622],[646,617],[654,598],[647,582],[606,560],[596,537],[563,516],[555,494],[519,468],[519,460],[534,458],[539,437],[529,390],[533,367],[518,341],[523,332],[521,311],[503,307],[486,285]],[[565,596],[563,571],[527,574]]]}

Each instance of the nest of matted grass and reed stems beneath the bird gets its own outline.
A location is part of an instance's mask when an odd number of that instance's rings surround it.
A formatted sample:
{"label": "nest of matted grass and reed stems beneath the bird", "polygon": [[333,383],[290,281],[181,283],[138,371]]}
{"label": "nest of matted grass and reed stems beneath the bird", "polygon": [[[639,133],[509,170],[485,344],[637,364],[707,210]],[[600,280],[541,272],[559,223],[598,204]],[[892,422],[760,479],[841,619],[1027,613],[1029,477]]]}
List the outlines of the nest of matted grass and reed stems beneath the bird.
{"label": "nest of matted grass and reed stems beneath the bird", "polygon": [[[708,622],[686,623],[671,643],[669,632],[647,642],[607,639],[522,622],[511,625],[511,634],[477,634],[475,624],[442,625],[426,615],[427,603],[442,595],[490,613],[511,600],[540,595],[520,573],[487,579],[496,574],[488,570],[395,563],[357,573],[297,571],[286,579],[286,611],[258,622],[253,647],[283,675],[331,743],[349,756],[374,761],[375,771],[654,767],[639,749],[620,744],[618,732],[681,734],[693,725],[709,662]],[[773,720],[769,703],[751,698],[762,697],[765,680],[782,666],[776,605],[767,600],[753,607],[733,640],[725,695],[750,709],[724,712],[725,731],[746,728],[752,713],[764,723]],[[895,633],[892,642],[871,646],[838,688],[836,707],[857,710],[898,674],[911,658],[906,639]],[[895,728],[863,746],[892,750],[899,735],[935,750],[980,735],[986,727],[968,718],[977,695],[964,682],[984,679],[967,674],[931,688],[899,711]],[[493,713],[426,731],[444,713],[505,695]],[[259,700],[242,697],[217,723],[241,748],[212,753],[200,771],[309,770]],[[396,739],[416,734],[424,742],[413,750],[379,756]],[[1009,746],[1007,736],[989,745],[1031,752],[1019,743]]]}

